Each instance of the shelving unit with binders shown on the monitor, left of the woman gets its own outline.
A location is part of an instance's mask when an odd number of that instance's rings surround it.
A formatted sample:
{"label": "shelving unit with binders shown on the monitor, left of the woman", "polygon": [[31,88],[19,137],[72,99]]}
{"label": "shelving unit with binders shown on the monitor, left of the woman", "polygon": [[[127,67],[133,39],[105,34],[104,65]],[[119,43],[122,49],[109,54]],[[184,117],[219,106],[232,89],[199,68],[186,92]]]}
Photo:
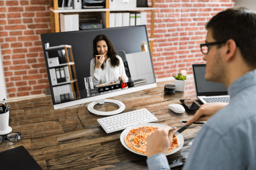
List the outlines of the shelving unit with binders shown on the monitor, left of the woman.
{"label": "shelving unit with binders shown on the monitor, left of the woman", "polygon": [[55,103],[80,98],[71,45],[46,48]]}

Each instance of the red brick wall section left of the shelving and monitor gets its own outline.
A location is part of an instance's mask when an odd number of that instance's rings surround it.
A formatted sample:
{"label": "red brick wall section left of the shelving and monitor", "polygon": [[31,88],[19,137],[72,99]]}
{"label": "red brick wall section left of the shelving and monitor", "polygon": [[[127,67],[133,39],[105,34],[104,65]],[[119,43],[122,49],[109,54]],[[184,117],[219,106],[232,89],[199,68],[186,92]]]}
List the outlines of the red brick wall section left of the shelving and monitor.
{"label": "red brick wall section left of the shelving and monitor", "polygon": [[0,43],[7,97],[49,87],[40,34],[50,33],[48,0],[0,1]]}

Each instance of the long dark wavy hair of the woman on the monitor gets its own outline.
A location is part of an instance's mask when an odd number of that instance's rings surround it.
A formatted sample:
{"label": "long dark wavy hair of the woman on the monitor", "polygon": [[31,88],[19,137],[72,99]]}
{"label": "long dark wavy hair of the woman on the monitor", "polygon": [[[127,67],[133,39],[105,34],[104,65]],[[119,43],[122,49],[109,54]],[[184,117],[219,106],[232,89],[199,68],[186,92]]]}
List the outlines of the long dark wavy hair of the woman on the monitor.
{"label": "long dark wavy hair of the woman on the monitor", "polygon": [[[94,40],[93,40],[93,57],[96,63],[96,55],[100,55],[99,52],[97,51],[97,42],[101,41],[101,40],[105,40],[105,42],[107,43],[108,46],[108,57],[110,58],[110,64],[111,67],[118,67],[120,62],[119,59],[117,58],[117,53],[115,52],[115,48],[112,44],[112,42],[110,41],[110,39],[108,39],[107,36],[105,35],[97,35]],[[101,65],[101,69],[104,70],[104,64]]]}

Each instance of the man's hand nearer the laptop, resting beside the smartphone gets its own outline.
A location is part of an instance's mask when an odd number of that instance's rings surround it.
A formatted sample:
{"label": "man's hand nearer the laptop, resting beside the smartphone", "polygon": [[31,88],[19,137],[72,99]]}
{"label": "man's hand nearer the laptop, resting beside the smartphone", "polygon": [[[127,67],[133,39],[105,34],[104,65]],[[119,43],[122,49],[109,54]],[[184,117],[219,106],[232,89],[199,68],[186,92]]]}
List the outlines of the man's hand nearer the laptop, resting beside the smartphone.
{"label": "man's hand nearer the laptop, resting beside the smartphone", "polygon": [[193,121],[206,121],[228,104],[229,103],[205,103],[200,106],[200,108],[196,111],[196,114],[186,123],[186,125],[189,125]]}

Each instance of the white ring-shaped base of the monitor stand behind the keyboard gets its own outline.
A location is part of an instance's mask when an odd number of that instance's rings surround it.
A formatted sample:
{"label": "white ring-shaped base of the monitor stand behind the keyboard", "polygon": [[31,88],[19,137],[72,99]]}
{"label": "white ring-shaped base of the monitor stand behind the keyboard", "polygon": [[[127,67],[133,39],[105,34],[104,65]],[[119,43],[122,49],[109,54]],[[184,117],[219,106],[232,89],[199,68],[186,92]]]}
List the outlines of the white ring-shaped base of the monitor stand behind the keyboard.
{"label": "white ring-shaped base of the monitor stand behind the keyboard", "polygon": [[[98,111],[98,110],[95,110],[93,109],[93,107],[97,104],[104,104],[104,103],[115,103],[119,106],[119,109],[117,110],[114,110],[114,111],[111,111],[111,112],[102,112],[102,111]],[[93,114],[97,114],[97,115],[101,115],[101,116],[111,116],[111,115],[114,115],[114,114],[119,114],[121,112],[124,111],[125,109],[125,105],[124,103],[122,103],[121,101],[117,101],[117,100],[112,100],[112,99],[101,99],[101,100],[96,100],[96,101],[93,101],[91,102],[88,106],[87,106],[87,109],[93,113]]]}

